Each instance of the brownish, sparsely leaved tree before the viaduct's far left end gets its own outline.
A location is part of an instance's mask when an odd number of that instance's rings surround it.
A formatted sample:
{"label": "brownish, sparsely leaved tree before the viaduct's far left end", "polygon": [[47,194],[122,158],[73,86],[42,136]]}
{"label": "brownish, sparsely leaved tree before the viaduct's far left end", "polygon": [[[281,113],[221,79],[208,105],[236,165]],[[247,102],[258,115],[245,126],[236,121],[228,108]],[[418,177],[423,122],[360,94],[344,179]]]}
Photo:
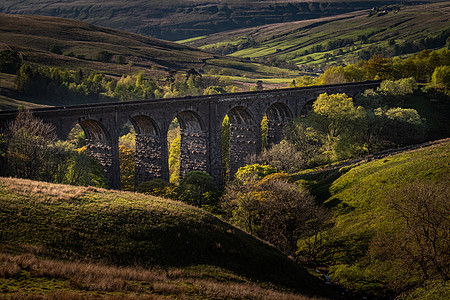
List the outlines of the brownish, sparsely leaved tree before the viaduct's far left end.
{"label": "brownish, sparsely leaved tree before the viaduct's far left end", "polygon": [[54,131],[53,125],[34,117],[30,110],[19,110],[6,139],[11,176],[40,179],[47,160],[47,146],[56,140]]}

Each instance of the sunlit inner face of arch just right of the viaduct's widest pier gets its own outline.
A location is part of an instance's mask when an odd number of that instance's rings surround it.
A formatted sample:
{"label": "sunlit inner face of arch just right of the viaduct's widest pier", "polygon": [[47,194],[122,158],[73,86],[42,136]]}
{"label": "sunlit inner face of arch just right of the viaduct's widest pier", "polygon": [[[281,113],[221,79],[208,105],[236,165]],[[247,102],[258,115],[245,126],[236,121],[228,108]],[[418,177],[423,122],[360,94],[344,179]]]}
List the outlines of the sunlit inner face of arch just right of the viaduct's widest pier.
{"label": "sunlit inner face of arch just right of the viaduct's widest pier", "polygon": [[253,113],[245,106],[229,110],[230,119],[230,179],[245,164],[245,158],[257,154],[261,149],[261,126]]}

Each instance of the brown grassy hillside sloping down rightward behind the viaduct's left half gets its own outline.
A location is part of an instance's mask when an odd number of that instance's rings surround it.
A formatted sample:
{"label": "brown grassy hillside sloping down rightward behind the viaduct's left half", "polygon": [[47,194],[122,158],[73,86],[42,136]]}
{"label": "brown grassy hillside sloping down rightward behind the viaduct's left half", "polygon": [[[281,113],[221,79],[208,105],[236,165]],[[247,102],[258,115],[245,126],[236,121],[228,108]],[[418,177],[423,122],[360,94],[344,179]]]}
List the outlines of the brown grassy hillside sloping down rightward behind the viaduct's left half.
{"label": "brown grassy hillside sloping down rightward behind the viaduct's left half", "polygon": [[[25,61],[113,75],[144,71],[161,77],[166,75],[161,71],[208,69],[209,65],[224,65],[225,62],[229,65],[223,68],[234,69],[233,64],[248,65],[247,73],[261,73],[263,77],[280,71],[276,68],[260,70],[259,64],[240,59],[218,57],[189,46],[54,17],[0,14],[0,41],[1,48],[20,51]],[[59,46],[62,55],[52,53],[51,45]],[[96,59],[100,51],[110,52],[111,61]],[[236,71],[241,70],[236,68]]]}

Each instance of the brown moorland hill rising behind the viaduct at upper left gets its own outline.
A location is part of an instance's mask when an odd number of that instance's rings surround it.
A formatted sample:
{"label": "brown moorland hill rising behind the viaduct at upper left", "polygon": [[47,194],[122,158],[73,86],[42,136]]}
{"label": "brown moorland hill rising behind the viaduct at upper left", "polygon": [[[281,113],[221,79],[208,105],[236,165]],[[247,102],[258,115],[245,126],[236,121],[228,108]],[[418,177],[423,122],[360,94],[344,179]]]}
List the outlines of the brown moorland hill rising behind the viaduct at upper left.
{"label": "brown moorland hill rising behind the viaduct at upper left", "polygon": [[[0,51],[5,49],[17,50],[25,63],[95,71],[116,78],[143,73],[156,82],[164,82],[172,71],[184,73],[191,68],[201,74],[234,75],[239,77],[237,80],[245,77],[252,84],[258,79],[292,78],[299,74],[174,42],[45,16],[0,14]],[[101,56],[105,52],[107,59]],[[15,92],[14,76],[0,73],[0,78],[1,108],[29,101]],[[249,89],[247,83],[241,86]]]}

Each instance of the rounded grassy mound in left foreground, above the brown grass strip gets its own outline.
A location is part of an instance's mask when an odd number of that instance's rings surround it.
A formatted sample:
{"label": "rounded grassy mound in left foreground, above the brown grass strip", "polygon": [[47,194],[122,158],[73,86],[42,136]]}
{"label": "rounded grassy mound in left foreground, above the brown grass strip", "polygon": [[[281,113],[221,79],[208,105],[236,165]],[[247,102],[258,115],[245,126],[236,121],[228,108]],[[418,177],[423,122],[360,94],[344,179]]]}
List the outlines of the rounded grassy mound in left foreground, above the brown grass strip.
{"label": "rounded grassy mound in left foreground, above the brown grass strip", "polygon": [[12,253],[140,268],[212,266],[320,293],[274,247],[201,209],[137,193],[0,178],[0,239]]}

